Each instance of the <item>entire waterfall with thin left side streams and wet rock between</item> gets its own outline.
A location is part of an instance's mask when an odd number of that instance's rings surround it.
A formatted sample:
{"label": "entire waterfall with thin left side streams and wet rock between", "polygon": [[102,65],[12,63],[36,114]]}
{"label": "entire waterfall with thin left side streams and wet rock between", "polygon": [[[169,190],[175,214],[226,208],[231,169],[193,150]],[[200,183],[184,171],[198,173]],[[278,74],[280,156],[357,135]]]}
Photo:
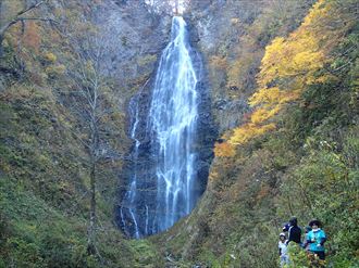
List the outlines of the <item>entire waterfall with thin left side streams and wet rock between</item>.
{"label": "entire waterfall with thin left side streams and wet rock between", "polygon": [[171,41],[162,52],[146,113],[141,91],[131,100],[134,146],[117,208],[120,228],[131,238],[169,229],[193,210],[205,190],[198,176],[203,120],[200,58],[195,55],[185,21],[173,17]]}

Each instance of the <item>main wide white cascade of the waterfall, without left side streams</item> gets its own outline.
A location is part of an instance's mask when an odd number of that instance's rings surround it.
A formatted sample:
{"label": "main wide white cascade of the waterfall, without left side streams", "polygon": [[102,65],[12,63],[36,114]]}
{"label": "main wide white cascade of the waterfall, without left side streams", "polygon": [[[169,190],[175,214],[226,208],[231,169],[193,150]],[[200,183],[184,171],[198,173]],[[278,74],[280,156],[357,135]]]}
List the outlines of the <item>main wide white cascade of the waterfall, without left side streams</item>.
{"label": "main wide white cascade of the waterfall, without left side streams", "polygon": [[173,226],[193,209],[193,144],[198,117],[197,77],[193,66],[185,21],[175,16],[171,42],[164,49],[156,77],[148,128],[158,142],[158,231]]}

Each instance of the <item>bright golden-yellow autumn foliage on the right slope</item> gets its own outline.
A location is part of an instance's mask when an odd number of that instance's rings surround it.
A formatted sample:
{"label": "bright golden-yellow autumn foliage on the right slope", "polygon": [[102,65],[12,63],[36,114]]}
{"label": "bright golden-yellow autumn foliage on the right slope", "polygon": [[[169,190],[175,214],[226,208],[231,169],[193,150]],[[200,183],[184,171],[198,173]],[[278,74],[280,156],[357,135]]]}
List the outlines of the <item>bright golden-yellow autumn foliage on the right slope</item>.
{"label": "bright golden-yellow autumn foliage on the right slope", "polygon": [[[231,144],[244,144],[275,129],[275,115],[288,103],[298,100],[308,86],[332,78],[318,71],[331,61],[329,52],[349,26],[344,16],[333,1],[320,0],[297,30],[287,38],[275,38],[265,48],[257,76],[259,88],[249,99],[253,112],[246,124],[234,129]],[[333,26],[333,20],[343,25]]]}

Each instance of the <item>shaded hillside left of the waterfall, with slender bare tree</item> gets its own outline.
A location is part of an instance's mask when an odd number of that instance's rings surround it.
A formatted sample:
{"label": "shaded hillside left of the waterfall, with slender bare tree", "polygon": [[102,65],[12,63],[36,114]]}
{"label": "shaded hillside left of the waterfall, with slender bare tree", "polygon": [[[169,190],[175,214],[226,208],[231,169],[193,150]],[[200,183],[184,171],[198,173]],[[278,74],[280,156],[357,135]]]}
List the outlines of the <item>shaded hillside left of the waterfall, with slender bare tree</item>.
{"label": "shaded hillside left of the waterfall, with slender bare tree", "polygon": [[[1,27],[32,4],[1,1]],[[113,207],[126,103],[154,68],[165,20],[113,1],[48,1],[23,17],[34,20],[1,43],[0,267],[154,267]]]}

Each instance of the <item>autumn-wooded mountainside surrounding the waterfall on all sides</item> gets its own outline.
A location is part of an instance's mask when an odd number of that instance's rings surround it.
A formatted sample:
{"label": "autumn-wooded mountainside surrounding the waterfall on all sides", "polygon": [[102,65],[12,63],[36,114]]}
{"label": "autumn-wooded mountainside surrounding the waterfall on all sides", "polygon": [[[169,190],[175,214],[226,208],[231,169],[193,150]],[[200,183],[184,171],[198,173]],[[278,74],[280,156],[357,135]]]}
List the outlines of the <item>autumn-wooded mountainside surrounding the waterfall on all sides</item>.
{"label": "autumn-wooded mountainside surrounding the waterfall on all sides", "polygon": [[[215,157],[188,217],[131,240],[128,105],[177,13]],[[359,266],[358,21],[357,0],[0,0],[0,267],[278,267],[292,216],[321,220],[326,260],[288,267]]]}

